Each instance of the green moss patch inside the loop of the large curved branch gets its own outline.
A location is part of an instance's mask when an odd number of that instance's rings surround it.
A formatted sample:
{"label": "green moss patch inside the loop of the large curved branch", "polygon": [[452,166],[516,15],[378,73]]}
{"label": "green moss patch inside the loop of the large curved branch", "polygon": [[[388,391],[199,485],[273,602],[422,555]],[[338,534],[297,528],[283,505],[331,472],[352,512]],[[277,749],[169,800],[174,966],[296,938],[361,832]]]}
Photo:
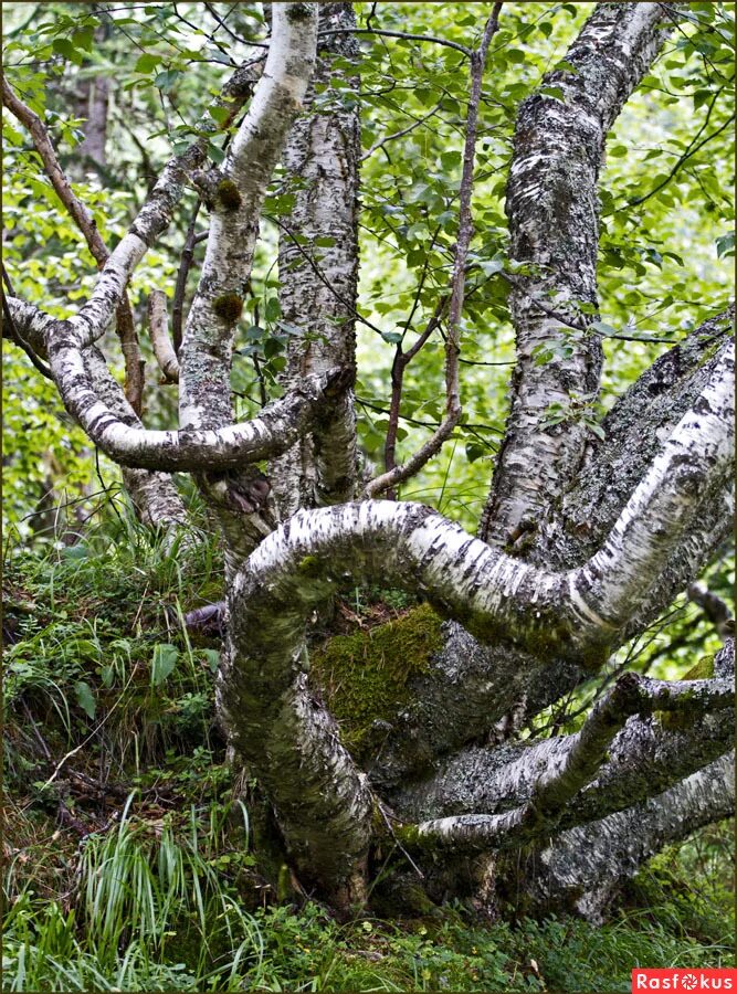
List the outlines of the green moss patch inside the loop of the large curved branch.
{"label": "green moss patch inside the loop of the large curved branch", "polygon": [[[396,717],[409,700],[409,681],[440,649],[440,617],[422,604],[368,632],[337,635],[312,653],[313,679],[324,688],[344,741],[359,760],[361,748],[371,747],[375,722]],[[378,733],[385,737],[387,729],[379,726]]]}

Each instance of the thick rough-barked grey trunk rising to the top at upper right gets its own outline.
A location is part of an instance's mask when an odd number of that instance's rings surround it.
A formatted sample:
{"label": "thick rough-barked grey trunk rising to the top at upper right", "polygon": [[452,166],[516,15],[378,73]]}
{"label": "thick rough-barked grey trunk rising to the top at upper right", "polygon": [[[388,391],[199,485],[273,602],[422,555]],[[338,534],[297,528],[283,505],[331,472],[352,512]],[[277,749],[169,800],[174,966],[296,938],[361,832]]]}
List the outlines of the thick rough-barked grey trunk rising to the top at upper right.
{"label": "thick rough-barked grey trunk rising to the top at upper right", "polygon": [[509,296],[517,366],[478,530],[485,541],[504,546],[536,528],[580,466],[588,429],[572,421],[547,427],[546,411],[573,394],[596,398],[601,345],[581,332],[569,359],[537,366],[535,348],[567,332],[536,302],[581,328],[582,319],[592,320],[580,305],[598,305],[597,184],[607,131],[657,54],[664,18],[661,3],[598,4],[566,54],[576,72],[556,70],[543,80],[562,98],[538,92],[519,108],[506,211],[510,258],[533,272],[515,281]]}

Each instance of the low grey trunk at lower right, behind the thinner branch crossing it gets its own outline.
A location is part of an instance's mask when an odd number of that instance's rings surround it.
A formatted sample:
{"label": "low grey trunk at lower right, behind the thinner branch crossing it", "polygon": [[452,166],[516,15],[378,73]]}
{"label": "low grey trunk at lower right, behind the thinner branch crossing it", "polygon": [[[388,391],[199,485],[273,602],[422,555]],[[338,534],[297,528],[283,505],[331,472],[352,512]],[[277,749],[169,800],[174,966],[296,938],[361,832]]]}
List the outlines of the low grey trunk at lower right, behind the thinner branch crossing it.
{"label": "low grey trunk at lower right, behind the thinner branch crossing it", "polygon": [[[468,813],[501,815],[530,800],[539,810],[536,794],[540,786],[551,776],[559,778],[569,766],[572,752],[583,744],[594,760],[594,753],[599,754],[596,776],[566,800],[558,831],[623,811],[673,786],[728,751],[735,733],[734,644],[719,654],[717,672],[716,680],[701,681],[702,688],[696,690],[696,696],[702,694],[701,702],[691,697],[687,683],[666,685],[668,695],[681,695],[677,719],[665,718],[665,712],[653,717],[660,710],[657,701],[643,700],[638,706],[639,715],[628,718],[627,707],[621,711],[621,730],[617,722],[607,729],[601,717],[592,712],[587,726],[604,732],[593,750],[589,748],[591,736],[587,745],[581,742],[580,732],[531,744],[474,747],[448,760],[432,778],[391,792],[392,807],[402,819],[412,822]],[[724,702],[725,696],[727,706],[719,707],[719,699]],[[611,742],[604,741],[607,731]]]}

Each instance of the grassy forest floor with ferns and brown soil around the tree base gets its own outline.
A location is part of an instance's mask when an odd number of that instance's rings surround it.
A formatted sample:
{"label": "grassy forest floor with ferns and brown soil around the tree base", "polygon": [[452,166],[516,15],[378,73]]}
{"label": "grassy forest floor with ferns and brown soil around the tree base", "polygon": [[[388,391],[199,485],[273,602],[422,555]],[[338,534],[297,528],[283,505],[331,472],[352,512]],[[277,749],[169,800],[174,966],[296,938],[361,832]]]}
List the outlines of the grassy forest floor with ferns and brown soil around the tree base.
{"label": "grassy forest floor with ferns and brown soil around the tree base", "polygon": [[[6,991],[630,991],[633,966],[734,963],[734,828],[646,866],[611,920],[461,906],[346,924],[260,871],[213,709],[218,601],[125,514],[3,563]],[[355,591],[344,622],[401,605]],[[349,627],[346,628],[348,631]]]}

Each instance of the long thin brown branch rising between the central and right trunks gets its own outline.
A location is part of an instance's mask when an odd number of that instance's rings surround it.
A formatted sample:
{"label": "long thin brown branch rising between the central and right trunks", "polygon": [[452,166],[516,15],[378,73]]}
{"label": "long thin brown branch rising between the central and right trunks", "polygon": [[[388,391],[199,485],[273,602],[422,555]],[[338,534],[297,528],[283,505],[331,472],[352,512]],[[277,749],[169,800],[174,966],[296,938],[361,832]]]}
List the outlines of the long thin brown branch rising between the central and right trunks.
{"label": "long thin brown branch rising between the central and right trunks", "polygon": [[[471,216],[471,194],[473,190],[473,172],[476,149],[476,127],[478,120],[478,104],[481,102],[482,82],[484,76],[484,67],[486,64],[486,54],[488,45],[499,27],[499,11],[502,3],[497,2],[492,9],[492,13],[484,25],[484,33],[481,45],[477,51],[471,52],[471,94],[468,97],[468,109],[466,113],[466,135],[465,146],[463,150],[463,169],[461,173],[461,188],[459,193],[459,233],[455,244],[455,256],[453,261],[453,275],[451,277],[451,293],[449,307],[449,331],[445,339],[445,417],[441,422],[434,435],[425,442],[410,458],[401,466],[392,466],[387,472],[377,476],[366,487],[368,497],[376,497],[378,494],[389,490],[393,493],[397,484],[402,483],[410,476],[413,476],[421,469],[425,463],[435,455],[443,443],[450,438],[454,427],[461,420],[463,409],[461,406],[460,382],[459,382],[459,353],[460,353],[460,322],[463,311],[463,297],[465,292],[465,272],[466,260],[468,256],[468,245],[473,234],[473,220]],[[434,317],[434,316],[433,316]],[[439,318],[436,319],[439,320]],[[425,338],[434,330],[436,325],[431,319],[429,330],[425,329]],[[422,337],[421,337],[422,338]],[[422,348],[424,341],[415,342],[414,348]],[[409,355],[409,353],[408,353]],[[412,355],[415,355],[413,352]],[[409,361],[409,360],[408,360]],[[407,364],[407,363],[403,363]],[[401,352],[398,351],[396,358],[397,376],[392,369],[392,412],[394,421],[398,417],[399,400],[401,395],[401,378],[403,374],[403,366]],[[397,384],[394,383],[397,381]],[[394,411],[394,408],[397,410]],[[389,455],[393,459],[393,450]]]}

